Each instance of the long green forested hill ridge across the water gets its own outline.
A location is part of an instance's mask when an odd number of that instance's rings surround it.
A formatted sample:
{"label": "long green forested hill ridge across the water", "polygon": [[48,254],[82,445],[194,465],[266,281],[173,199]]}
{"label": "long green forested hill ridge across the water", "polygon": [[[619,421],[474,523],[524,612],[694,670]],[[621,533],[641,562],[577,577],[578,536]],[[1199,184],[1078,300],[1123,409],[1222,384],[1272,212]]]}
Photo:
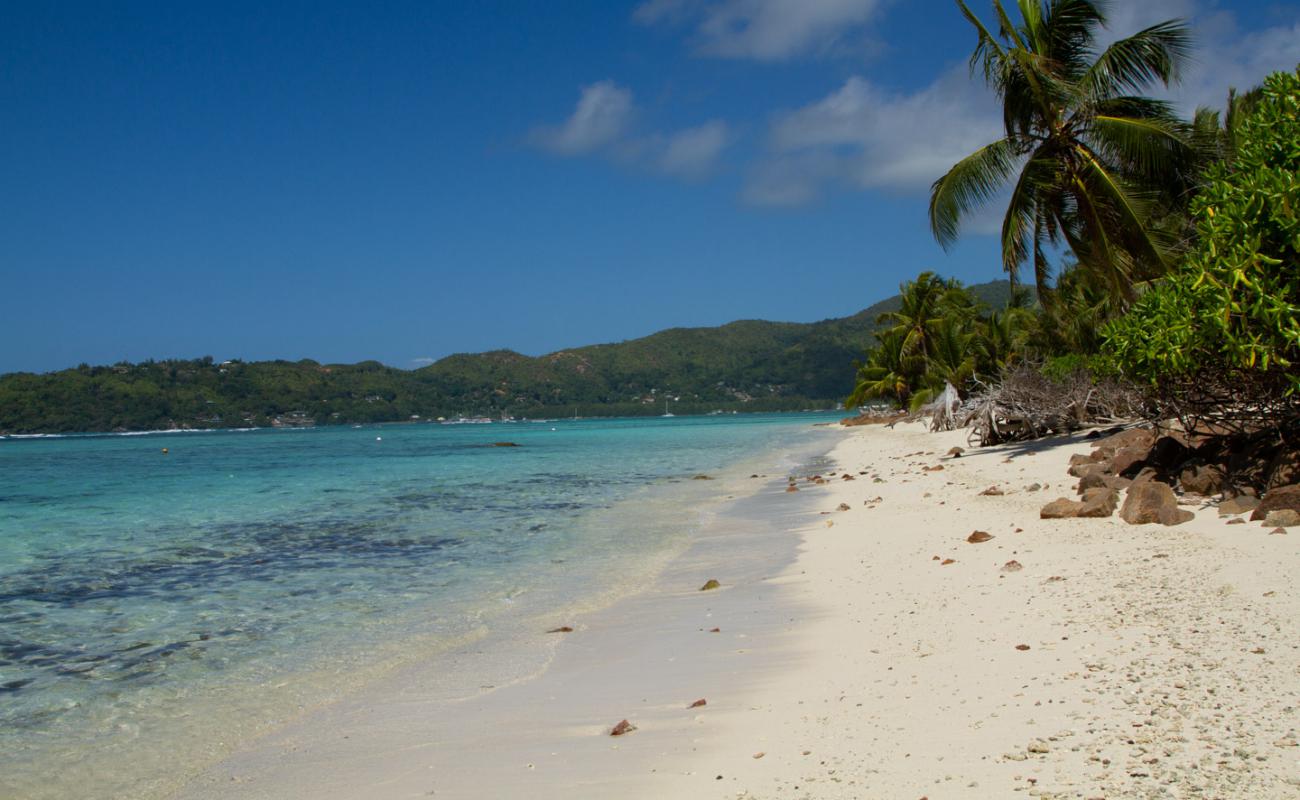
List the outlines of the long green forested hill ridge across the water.
{"label": "long green forested hill ridge across the water", "polygon": [[[1006,281],[971,286],[991,307]],[[0,376],[0,433],[584,416],[827,407],[898,297],[819,323],[741,320],[528,356],[450,355],[406,371],[378,362],[196,360]]]}

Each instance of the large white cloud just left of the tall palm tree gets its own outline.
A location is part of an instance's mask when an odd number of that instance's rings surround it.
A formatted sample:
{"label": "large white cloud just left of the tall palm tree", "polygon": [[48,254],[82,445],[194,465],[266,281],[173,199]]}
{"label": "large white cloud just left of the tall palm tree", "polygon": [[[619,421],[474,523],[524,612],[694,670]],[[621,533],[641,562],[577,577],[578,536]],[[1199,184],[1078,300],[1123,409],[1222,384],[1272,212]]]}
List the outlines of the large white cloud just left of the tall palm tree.
{"label": "large white cloud just left of the tall palm tree", "polygon": [[957,160],[1001,134],[997,105],[965,66],[915,94],[853,77],[822,100],[779,114],[746,202],[806,203],[831,185],[923,193]]}

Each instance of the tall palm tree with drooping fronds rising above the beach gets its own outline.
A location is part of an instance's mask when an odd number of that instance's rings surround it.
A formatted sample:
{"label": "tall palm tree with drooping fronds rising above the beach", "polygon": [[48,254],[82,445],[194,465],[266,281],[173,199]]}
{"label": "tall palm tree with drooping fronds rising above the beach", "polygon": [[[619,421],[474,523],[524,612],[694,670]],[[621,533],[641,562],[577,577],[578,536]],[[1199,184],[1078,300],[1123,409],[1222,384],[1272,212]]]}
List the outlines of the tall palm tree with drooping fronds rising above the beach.
{"label": "tall palm tree with drooping fronds rising above the beach", "polygon": [[957,5],[979,34],[971,69],[980,65],[997,91],[1005,130],[935,181],[935,237],[949,247],[962,219],[1011,183],[1001,239],[1013,281],[1032,260],[1039,297],[1050,303],[1048,252],[1065,245],[1127,302],[1135,281],[1166,269],[1166,242],[1148,213],[1162,191],[1183,191],[1170,177],[1186,174],[1192,157],[1171,107],[1130,92],[1176,81],[1187,27],[1161,22],[1097,55],[1104,0],[1017,0],[1019,25],[993,0],[997,35],[963,0]]}

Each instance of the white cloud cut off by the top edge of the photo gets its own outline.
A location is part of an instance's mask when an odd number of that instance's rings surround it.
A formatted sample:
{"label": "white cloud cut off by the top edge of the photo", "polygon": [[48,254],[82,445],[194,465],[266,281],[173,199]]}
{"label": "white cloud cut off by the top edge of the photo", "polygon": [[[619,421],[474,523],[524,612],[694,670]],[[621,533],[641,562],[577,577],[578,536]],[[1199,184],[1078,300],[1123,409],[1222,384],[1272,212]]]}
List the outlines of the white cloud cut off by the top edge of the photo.
{"label": "white cloud cut off by the top edge of the photo", "polygon": [[697,51],[723,59],[779,61],[842,46],[883,0],[649,0],[633,12],[645,25],[690,22]]}

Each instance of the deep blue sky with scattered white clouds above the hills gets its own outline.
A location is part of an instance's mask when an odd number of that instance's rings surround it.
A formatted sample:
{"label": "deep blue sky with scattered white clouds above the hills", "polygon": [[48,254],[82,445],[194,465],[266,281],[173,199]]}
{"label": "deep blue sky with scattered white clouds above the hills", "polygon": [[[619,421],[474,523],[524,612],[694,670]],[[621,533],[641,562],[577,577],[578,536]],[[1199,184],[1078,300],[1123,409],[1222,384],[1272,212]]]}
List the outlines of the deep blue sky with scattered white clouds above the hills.
{"label": "deep blue sky with scattered white clouds above the hills", "polygon": [[[1300,3],[1112,17],[1195,23],[1184,108],[1300,61]],[[4,4],[0,372],[415,367],[1000,277],[996,209],[950,252],[926,219],[997,133],[972,44],[946,0]]]}

